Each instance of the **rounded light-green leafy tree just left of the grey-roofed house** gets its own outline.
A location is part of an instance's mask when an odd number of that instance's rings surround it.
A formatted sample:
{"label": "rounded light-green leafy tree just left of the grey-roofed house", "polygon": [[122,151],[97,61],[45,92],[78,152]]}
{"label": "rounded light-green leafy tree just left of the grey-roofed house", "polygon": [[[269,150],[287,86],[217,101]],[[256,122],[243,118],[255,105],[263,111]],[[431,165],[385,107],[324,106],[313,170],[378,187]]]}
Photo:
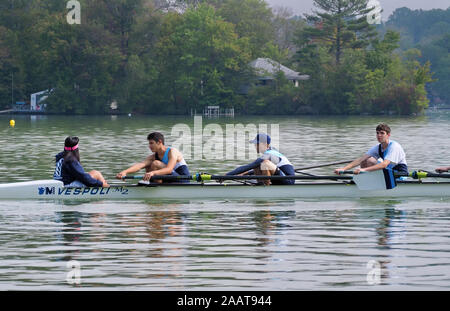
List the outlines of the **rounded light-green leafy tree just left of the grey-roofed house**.
{"label": "rounded light-green leafy tree just left of the grey-roofed house", "polygon": [[209,5],[169,13],[156,51],[156,101],[171,113],[230,105],[239,73],[250,61],[247,39],[238,38],[234,26]]}

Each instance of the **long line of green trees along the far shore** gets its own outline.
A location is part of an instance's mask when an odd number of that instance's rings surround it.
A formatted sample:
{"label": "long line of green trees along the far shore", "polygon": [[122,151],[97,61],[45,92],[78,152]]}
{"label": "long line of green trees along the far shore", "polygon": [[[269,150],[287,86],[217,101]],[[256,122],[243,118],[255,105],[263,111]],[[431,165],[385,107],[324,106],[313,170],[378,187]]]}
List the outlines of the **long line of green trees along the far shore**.
{"label": "long line of green trees along the far shore", "polygon": [[[0,108],[53,89],[47,111],[188,114],[413,114],[428,105],[431,63],[401,32],[367,22],[367,0],[315,0],[305,17],[264,0],[0,0]],[[395,15],[395,14],[394,14]],[[426,46],[424,47],[424,49]],[[448,54],[447,54],[448,56]],[[261,86],[249,63],[282,72]],[[249,85],[248,92],[242,86]]]}

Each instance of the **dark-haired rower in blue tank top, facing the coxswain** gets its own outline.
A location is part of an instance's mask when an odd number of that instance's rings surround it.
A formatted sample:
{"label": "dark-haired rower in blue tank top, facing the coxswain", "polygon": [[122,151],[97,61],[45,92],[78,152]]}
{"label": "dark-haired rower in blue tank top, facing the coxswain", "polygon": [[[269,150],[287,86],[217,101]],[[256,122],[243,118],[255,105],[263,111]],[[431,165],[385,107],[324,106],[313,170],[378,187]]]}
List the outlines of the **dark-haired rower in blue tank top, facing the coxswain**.
{"label": "dark-haired rower in blue tank top, facing the coxswain", "polygon": [[143,180],[150,180],[154,175],[190,175],[189,168],[181,152],[173,147],[164,145],[163,134],[158,132],[150,133],[147,136],[147,140],[148,146],[153,154],[148,156],[144,161],[121,171],[116,175],[116,178],[123,179],[127,174],[135,173],[144,168],[146,173]]}

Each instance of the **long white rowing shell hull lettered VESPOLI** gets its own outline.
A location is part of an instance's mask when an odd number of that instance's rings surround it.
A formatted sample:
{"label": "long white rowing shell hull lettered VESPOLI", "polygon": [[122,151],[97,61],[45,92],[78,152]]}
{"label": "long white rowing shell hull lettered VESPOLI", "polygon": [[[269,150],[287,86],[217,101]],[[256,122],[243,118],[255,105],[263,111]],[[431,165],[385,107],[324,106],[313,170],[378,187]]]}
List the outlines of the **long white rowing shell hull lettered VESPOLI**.
{"label": "long white rowing shell hull lettered VESPOLI", "polygon": [[353,183],[315,182],[294,185],[244,184],[119,184],[102,187],[64,187],[56,180],[0,184],[0,199],[286,199],[365,197],[450,197],[450,182],[401,181],[391,190],[360,190]]}

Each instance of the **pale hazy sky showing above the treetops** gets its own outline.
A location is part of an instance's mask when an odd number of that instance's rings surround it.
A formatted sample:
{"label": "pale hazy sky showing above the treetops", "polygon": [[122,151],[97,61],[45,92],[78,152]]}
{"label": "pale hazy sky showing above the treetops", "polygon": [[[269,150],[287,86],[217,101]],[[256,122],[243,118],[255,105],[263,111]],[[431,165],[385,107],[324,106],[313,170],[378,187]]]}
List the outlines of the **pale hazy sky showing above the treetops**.
{"label": "pale hazy sky showing above the treetops", "polygon": [[[311,13],[314,8],[313,0],[266,0],[271,6],[284,6],[292,8],[297,15]],[[449,0],[378,0],[383,9],[382,18],[387,20],[389,15],[396,9],[407,7],[410,9],[447,9],[450,7]]]}

